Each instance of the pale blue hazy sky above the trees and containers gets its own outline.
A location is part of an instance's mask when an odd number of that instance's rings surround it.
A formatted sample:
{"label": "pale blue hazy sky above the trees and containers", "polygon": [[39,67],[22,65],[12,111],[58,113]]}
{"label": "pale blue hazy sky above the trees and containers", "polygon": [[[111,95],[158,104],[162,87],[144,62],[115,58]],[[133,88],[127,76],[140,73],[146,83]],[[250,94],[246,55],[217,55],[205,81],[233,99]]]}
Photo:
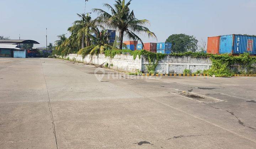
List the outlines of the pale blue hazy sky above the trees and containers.
{"label": "pale blue hazy sky above the trees and containers", "polygon": [[[86,12],[114,0],[89,0]],[[0,35],[11,39],[36,40],[46,46],[57,40],[84,12],[84,0],[1,0]],[[194,35],[198,40],[223,34],[256,34],[256,0],[133,0],[130,9],[138,19],[148,19],[158,41],[146,35],[146,42],[164,42],[171,34]],[[92,18],[96,15],[92,14]]]}

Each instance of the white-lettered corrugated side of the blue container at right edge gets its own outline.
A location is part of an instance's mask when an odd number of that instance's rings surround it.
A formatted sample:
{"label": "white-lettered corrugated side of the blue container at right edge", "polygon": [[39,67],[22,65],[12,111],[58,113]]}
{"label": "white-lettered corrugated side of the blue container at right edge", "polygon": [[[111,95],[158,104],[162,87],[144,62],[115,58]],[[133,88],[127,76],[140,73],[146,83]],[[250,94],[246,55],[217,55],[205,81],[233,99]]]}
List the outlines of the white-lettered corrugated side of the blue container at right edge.
{"label": "white-lettered corrugated side of the blue container at right edge", "polygon": [[246,35],[235,35],[234,54],[250,53],[256,54],[256,37]]}

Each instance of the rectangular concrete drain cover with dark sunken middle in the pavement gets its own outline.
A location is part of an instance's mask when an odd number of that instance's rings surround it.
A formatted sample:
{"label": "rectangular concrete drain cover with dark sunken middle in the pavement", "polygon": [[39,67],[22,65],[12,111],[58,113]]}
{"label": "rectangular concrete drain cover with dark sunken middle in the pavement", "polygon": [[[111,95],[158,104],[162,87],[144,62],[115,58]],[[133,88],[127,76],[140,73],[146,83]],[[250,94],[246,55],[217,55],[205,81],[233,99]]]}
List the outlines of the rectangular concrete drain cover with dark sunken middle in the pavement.
{"label": "rectangular concrete drain cover with dark sunken middle in the pavement", "polygon": [[189,98],[189,99],[196,100],[199,103],[219,103],[219,102],[225,102],[225,100],[221,100],[221,99],[217,99],[217,98],[213,98],[213,97],[197,94],[197,93],[194,93],[194,92],[188,92],[188,93],[178,92],[178,93],[175,93],[175,94],[184,96],[184,97]]}

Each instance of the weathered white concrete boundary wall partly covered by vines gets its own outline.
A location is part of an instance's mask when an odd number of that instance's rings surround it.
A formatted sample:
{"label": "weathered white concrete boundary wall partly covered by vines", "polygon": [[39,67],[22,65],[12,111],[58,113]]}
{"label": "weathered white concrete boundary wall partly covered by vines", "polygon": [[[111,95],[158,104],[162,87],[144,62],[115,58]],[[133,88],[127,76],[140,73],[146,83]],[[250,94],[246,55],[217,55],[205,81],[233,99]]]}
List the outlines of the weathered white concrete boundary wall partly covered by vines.
{"label": "weathered white concrete boundary wall partly covered by vines", "polygon": [[[108,65],[113,64],[114,69],[135,72],[136,70],[141,70],[147,73],[146,65],[148,65],[148,60],[142,56],[141,59],[136,57],[133,59],[131,55],[116,55],[113,59],[106,57],[104,54],[99,54],[98,56],[91,57],[90,55],[82,59],[82,56],[77,54],[69,54],[70,60],[75,58],[77,61],[84,61],[87,64],[102,65],[108,63]],[[197,70],[208,70],[212,66],[212,61],[209,58],[200,57],[195,58],[191,56],[166,56],[164,59],[159,61],[155,72],[157,73],[183,73],[184,69],[190,69],[191,72],[196,72]]]}

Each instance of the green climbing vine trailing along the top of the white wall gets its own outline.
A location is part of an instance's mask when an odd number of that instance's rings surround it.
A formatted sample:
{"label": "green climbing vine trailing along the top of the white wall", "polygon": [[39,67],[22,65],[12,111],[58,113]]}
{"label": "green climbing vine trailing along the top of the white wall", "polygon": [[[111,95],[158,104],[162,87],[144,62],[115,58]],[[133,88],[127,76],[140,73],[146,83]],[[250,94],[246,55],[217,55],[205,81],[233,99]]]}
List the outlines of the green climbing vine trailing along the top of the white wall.
{"label": "green climbing vine trailing along the top of the white wall", "polygon": [[[105,56],[110,56],[113,58],[118,54],[130,54],[133,59],[138,56],[144,55],[148,59],[149,64],[146,68],[149,73],[154,73],[158,62],[163,59],[166,54],[151,53],[146,50],[106,50]],[[208,54],[201,52],[186,52],[186,53],[172,53],[171,56],[191,56],[191,57],[209,57],[212,60],[212,67],[209,70],[204,70],[204,73],[209,75],[215,75],[217,77],[229,77],[233,76],[235,73],[256,73],[256,56],[250,56],[249,53],[241,54],[239,56],[234,56],[230,54]],[[236,65],[237,68],[231,69],[231,65]]]}

